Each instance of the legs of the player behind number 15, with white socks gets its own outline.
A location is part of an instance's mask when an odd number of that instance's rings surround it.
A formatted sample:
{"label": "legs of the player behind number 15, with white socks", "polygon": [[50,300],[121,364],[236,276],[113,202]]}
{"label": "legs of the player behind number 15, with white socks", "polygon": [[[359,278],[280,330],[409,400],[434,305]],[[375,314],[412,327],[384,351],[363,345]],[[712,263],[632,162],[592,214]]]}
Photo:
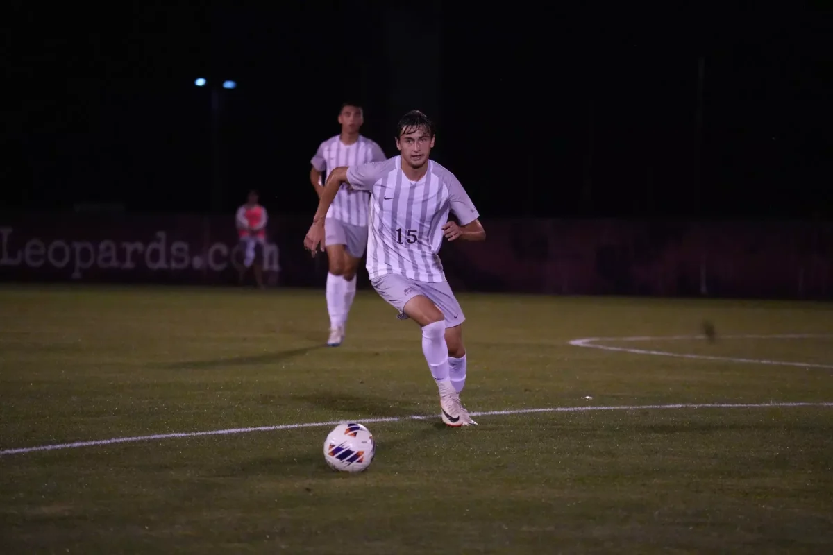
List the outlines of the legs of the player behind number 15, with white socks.
{"label": "legs of the player behind number 15, with white socks", "polygon": [[344,328],[356,297],[356,272],[359,259],[347,254],[344,245],[327,245],[327,311],[330,337],[327,345],[337,347],[344,340]]}

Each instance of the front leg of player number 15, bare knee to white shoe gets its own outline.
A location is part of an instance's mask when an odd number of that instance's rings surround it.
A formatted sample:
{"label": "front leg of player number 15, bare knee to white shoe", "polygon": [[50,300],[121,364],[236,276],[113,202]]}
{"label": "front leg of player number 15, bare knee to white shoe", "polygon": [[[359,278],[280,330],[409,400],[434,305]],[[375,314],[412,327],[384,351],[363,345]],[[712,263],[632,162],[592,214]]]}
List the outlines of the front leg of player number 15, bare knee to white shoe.
{"label": "front leg of player number 15, bare knee to white shoe", "polygon": [[460,403],[460,396],[451,384],[446,344],[446,317],[425,295],[416,295],[402,308],[408,318],[422,329],[422,354],[440,390],[442,421],[451,427],[476,424]]}

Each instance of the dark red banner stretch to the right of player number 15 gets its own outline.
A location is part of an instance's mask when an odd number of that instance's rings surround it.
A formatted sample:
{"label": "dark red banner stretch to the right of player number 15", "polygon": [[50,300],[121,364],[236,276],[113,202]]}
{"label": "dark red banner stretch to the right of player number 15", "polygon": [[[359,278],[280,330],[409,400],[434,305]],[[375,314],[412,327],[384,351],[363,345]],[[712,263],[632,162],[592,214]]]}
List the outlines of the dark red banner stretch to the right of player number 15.
{"label": "dark red banner stretch to the right of player number 15", "polygon": [[501,221],[443,253],[457,287],[555,295],[833,298],[833,225]]}

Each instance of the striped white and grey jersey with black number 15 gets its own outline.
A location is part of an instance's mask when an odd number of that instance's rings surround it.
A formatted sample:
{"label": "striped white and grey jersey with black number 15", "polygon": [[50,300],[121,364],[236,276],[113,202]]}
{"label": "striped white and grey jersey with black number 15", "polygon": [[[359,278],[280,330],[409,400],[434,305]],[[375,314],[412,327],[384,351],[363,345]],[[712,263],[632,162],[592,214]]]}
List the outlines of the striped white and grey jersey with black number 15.
{"label": "striped white and grey jersey with black number 15", "polygon": [[460,225],[480,215],[466,190],[451,171],[428,161],[420,181],[402,171],[402,158],[372,162],[347,169],[353,189],[369,191],[370,230],[367,237],[367,273],[404,275],[412,280],[444,281],[440,247],[442,226],[453,212]]}

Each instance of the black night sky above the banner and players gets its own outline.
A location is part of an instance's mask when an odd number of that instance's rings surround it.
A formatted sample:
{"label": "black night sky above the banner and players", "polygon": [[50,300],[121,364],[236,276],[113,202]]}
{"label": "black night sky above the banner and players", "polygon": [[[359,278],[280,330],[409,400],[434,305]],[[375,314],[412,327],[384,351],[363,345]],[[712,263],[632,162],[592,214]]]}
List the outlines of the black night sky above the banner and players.
{"label": "black night sky above the banner and players", "polygon": [[212,211],[205,77],[238,85],[222,211],[254,187],[312,215],[309,160],[353,100],[388,156],[404,111],[433,117],[434,159],[486,218],[830,218],[831,9],[756,3],[15,2],[0,201]]}

